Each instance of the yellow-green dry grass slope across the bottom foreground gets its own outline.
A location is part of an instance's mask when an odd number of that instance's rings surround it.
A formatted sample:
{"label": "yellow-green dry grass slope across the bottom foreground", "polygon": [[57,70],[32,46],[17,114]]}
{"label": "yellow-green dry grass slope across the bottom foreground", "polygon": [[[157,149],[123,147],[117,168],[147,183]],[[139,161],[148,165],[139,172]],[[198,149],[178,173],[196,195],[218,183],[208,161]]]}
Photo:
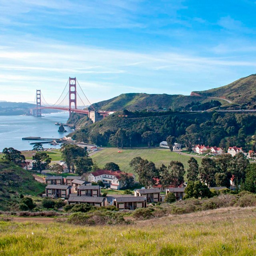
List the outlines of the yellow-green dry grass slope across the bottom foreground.
{"label": "yellow-green dry grass slope across the bottom foreground", "polygon": [[252,256],[256,208],[222,208],[128,226],[0,222],[1,256]]}

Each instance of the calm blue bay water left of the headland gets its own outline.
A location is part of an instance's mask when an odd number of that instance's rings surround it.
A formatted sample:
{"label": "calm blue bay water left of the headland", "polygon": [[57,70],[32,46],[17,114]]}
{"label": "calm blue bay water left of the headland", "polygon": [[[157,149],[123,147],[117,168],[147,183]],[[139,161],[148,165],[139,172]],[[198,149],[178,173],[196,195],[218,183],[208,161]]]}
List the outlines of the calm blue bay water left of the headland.
{"label": "calm blue bay water left of the headland", "polygon": [[[30,150],[33,145],[22,140],[23,137],[35,136],[41,138],[62,138],[72,130],[65,126],[68,132],[58,132],[56,122],[66,123],[68,112],[43,114],[42,117],[34,116],[0,116],[0,152],[3,148],[16,148],[17,150]],[[59,148],[60,145],[52,146],[43,144],[44,148]]]}

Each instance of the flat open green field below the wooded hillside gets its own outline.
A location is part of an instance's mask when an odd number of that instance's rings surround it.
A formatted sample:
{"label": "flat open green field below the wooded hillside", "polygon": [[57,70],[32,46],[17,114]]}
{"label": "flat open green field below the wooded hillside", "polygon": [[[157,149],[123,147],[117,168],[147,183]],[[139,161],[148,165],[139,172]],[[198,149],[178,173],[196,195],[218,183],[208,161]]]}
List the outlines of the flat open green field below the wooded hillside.
{"label": "flat open green field below the wooded hillside", "polygon": [[[92,159],[96,160],[98,166],[103,168],[107,162],[114,162],[119,165],[120,169],[125,172],[132,172],[132,168],[129,166],[129,162],[132,158],[140,156],[141,158],[148,159],[160,166],[165,164],[168,166],[171,160],[176,160],[184,164],[185,170],[188,168],[188,160],[192,156],[181,155],[176,152],[170,152],[168,149],[160,148],[134,148],[134,149],[122,149],[122,153],[118,153],[118,148],[106,148],[92,156]],[[198,164],[201,164],[201,158],[196,158]]]}

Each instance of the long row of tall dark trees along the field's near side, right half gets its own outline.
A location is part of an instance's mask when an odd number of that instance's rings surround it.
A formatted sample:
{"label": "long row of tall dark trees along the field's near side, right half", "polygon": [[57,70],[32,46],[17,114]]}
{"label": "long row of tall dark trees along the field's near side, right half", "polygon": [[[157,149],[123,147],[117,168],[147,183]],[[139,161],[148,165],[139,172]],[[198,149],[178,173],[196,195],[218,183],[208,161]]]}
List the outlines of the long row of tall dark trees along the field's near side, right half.
{"label": "long row of tall dark trees along the field's near side, right half", "polygon": [[[226,186],[230,188],[230,178],[234,180],[236,188],[255,191],[256,165],[250,165],[244,154],[239,153],[232,157],[230,154],[222,154],[216,158],[203,158],[199,167],[195,158],[188,160],[187,179],[188,182],[200,182],[208,187]],[[160,183],[164,188],[177,187],[184,183],[184,166],[179,161],[171,161],[168,166],[162,164],[159,168],[153,162],[133,158],[130,162],[134,172],[138,174],[140,184],[151,187]],[[252,178],[249,178],[252,177]],[[253,187],[253,188],[252,188]]]}

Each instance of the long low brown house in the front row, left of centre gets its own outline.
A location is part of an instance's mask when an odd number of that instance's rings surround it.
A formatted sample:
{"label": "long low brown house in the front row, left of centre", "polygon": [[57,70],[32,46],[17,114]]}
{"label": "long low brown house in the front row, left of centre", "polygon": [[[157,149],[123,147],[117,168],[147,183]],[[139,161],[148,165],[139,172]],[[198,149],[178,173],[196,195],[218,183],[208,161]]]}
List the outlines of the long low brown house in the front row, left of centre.
{"label": "long low brown house in the front row, left of centre", "polygon": [[100,207],[107,206],[108,202],[106,197],[93,197],[93,196],[70,196],[68,204],[90,204],[92,206]]}

